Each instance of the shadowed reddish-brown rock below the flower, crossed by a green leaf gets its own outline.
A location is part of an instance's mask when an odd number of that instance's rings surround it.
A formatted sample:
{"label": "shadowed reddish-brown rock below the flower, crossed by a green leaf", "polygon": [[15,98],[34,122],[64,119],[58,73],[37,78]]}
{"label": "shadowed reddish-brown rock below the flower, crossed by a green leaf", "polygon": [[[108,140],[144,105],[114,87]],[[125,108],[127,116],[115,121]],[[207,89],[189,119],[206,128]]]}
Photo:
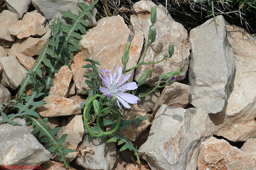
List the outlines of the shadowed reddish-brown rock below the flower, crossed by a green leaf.
{"label": "shadowed reddish-brown rock below the flower, crossed by a green leaf", "polygon": [[[138,116],[147,116],[147,112],[145,109],[140,109],[137,104],[133,104],[131,109],[124,109],[122,112],[124,116],[123,120],[131,120],[135,115]],[[136,118],[138,118],[138,116]],[[123,135],[124,137],[128,137],[128,140],[135,141],[138,137],[147,129],[150,124],[149,120],[146,119],[141,122],[140,126],[134,131],[134,124],[130,124],[130,127],[126,127],[124,130],[119,132],[119,129],[116,131],[118,135]]]}

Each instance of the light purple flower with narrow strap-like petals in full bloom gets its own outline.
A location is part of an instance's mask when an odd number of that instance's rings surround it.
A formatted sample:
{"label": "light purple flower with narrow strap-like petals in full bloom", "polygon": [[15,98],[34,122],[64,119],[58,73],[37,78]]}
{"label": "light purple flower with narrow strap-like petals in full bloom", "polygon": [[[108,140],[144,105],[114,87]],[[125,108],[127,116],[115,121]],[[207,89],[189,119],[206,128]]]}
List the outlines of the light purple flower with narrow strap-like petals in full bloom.
{"label": "light purple flower with narrow strap-like petals in full bloom", "polygon": [[[100,92],[104,93],[105,96],[107,96],[108,98],[112,98],[112,97],[116,97],[116,104],[117,106],[123,110],[120,107],[119,101],[122,103],[122,105],[126,108],[131,108],[131,106],[128,103],[131,104],[136,104],[139,100],[138,97],[126,93],[127,90],[134,90],[137,89],[138,86],[136,84],[136,82],[131,82],[131,83],[126,83],[124,84],[128,78],[131,76],[131,73],[126,74],[122,80],[120,82],[118,82],[121,78],[122,75],[122,67],[119,66],[117,69],[117,75],[116,75],[116,65],[114,66],[114,72],[113,75],[110,71],[108,70],[103,70],[101,69],[101,71],[104,74],[104,78],[100,75],[100,78],[102,79],[102,83],[107,87],[100,87]],[[106,75],[106,73],[109,74],[109,77]]]}

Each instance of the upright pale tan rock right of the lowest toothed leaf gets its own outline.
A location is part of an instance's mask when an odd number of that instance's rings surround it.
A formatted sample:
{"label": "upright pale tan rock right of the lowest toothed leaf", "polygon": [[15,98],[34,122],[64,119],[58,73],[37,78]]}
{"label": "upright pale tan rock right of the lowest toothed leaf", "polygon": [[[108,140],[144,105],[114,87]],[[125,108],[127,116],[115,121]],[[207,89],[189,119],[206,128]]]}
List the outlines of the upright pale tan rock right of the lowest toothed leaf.
{"label": "upright pale tan rock right of the lowest toothed leaf", "polygon": [[[57,137],[60,138],[63,134],[68,134],[63,144],[66,145],[66,149],[76,150],[79,142],[82,141],[84,136],[84,123],[83,115],[71,115],[68,117],[68,124],[65,126],[65,129],[61,134],[58,134]],[[51,159],[60,161],[60,157],[55,155]],[[65,159],[67,162],[71,162],[76,158],[76,152],[70,152],[66,155]]]}

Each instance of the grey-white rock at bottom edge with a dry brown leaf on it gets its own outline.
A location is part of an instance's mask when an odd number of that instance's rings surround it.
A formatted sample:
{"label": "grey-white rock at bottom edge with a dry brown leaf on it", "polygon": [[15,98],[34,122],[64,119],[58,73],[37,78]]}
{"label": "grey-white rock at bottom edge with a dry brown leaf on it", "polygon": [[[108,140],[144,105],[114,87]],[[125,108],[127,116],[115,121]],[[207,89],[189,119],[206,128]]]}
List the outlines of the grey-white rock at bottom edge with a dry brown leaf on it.
{"label": "grey-white rock at bottom edge with a dry brown leaf on it", "polygon": [[82,166],[84,169],[111,170],[116,162],[116,145],[113,142],[106,143],[107,141],[107,137],[100,140],[93,138],[89,141],[88,136],[85,136],[78,148],[81,148],[81,152],[83,149],[91,152],[77,156],[76,165]]}

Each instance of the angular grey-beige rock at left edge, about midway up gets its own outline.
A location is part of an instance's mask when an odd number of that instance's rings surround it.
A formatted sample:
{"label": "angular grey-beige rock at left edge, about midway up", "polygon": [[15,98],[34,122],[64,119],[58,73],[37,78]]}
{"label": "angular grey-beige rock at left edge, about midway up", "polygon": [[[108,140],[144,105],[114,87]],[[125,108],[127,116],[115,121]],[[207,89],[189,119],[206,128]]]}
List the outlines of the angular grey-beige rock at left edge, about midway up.
{"label": "angular grey-beige rock at left edge, about midway up", "polygon": [[12,90],[16,90],[20,86],[28,73],[28,70],[20,65],[15,56],[0,58],[0,66],[3,68],[1,84]]}

